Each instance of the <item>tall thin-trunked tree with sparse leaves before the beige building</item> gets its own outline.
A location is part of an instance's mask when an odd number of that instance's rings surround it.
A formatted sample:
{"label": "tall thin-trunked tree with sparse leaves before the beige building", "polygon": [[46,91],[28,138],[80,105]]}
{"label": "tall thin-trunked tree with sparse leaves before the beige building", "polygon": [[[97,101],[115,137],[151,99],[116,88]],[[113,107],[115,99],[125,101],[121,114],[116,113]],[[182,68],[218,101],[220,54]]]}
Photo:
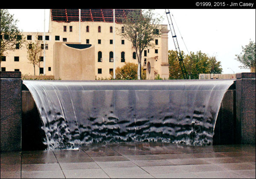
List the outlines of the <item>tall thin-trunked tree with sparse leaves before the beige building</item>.
{"label": "tall thin-trunked tree with sparse leaves before the beige building", "polygon": [[117,29],[119,35],[131,41],[135,49],[138,65],[137,78],[141,78],[141,59],[143,50],[149,46],[155,38],[159,37],[161,31],[162,18],[154,13],[153,9],[131,10],[122,19],[122,29]]}

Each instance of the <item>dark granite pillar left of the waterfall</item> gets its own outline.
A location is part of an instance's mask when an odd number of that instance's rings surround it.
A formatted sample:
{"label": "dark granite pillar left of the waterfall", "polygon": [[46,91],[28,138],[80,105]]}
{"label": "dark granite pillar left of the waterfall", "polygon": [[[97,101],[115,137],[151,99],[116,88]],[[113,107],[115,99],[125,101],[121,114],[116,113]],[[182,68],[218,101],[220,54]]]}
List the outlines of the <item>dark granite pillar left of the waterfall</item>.
{"label": "dark granite pillar left of the waterfall", "polygon": [[1,74],[1,151],[21,150],[21,72]]}

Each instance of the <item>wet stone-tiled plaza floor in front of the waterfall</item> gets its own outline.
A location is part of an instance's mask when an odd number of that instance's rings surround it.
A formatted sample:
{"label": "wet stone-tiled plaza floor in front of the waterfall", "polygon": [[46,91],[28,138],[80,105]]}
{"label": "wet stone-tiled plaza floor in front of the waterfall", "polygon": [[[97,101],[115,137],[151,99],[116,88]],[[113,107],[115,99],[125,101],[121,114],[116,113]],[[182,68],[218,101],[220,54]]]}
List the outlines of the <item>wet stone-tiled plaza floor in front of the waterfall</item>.
{"label": "wet stone-tiled plaza floor in front of the waterfall", "polygon": [[1,152],[2,178],[255,178],[255,145],[160,142]]}

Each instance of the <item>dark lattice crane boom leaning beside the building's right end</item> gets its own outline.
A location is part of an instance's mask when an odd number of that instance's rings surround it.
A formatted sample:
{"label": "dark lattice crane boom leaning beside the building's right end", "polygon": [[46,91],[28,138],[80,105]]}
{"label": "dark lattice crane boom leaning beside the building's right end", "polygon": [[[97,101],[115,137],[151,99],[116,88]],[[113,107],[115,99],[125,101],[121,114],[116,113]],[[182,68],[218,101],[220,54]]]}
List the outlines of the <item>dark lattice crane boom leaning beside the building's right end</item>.
{"label": "dark lattice crane boom leaning beside the building's right end", "polygon": [[[165,9],[165,11],[166,11],[167,20],[168,20],[168,23],[169,23],[169,26],[170,26],[170,29],[171,29],[171,32],[172,32],[172,38],[173,38],[173,42],[174,42],[175,49],[176,49],[176,52],[177,52],[177,56],[178,56],[178,60],[179,60],[179,64],[180,64],[180,68],[181,68],[183,78],[184,79],[189,79],[188,75],[187,75],[187,72],[186,72],[185,65],[183,63],[183,57],[182,57],[181,52],[180,52],[180,47],[179,47],[179,44],[178,44],[178,41],[177,41],[177,36],[175,34],[175,30],[174,30],[174,26],[173,26],[173,23],[172,23],[172,18],[171,18],[170,11],[169,11],[169,9],[168,9],[168,12],[167,12],[166,9]],[[169,16],[168,16],[168,14],[169,14]],[[172,23],[172,25],[170,24],[170,22]],[[186,75],[186,78],[185,78],[184,73]]]}

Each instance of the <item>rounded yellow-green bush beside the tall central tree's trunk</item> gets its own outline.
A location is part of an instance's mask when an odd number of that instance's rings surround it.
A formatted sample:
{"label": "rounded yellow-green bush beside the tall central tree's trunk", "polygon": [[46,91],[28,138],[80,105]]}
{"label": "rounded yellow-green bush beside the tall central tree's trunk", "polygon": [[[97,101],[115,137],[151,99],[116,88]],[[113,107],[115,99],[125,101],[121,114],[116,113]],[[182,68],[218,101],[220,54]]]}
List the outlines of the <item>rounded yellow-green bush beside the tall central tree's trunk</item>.
{"label": "rounded yellow-green bush beside the tall central tree's trunk", "polygon": [[[116,80],[137,80],[138,64],[125,63],[124,66],[116,68]],[[111,72],[113,77],[113,72]],[[146,79],[145,71],[143,70],[141,78]]]}

